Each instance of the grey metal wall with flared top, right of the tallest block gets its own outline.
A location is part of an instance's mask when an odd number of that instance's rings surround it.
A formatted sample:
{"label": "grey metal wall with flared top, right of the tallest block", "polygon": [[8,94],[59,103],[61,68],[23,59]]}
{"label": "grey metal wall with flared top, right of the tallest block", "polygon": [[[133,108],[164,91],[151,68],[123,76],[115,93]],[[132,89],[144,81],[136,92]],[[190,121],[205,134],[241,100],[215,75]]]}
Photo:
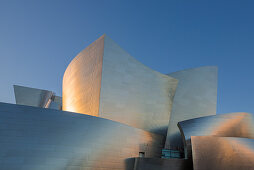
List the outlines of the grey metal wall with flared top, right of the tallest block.
{"label": "grey metal wall with flared top, right of the tallest block", "polygon": [[178,79],[165,148],[183,148],[177,123],[201,116],[215,115],[217,67],[206,66],[169,74]]}

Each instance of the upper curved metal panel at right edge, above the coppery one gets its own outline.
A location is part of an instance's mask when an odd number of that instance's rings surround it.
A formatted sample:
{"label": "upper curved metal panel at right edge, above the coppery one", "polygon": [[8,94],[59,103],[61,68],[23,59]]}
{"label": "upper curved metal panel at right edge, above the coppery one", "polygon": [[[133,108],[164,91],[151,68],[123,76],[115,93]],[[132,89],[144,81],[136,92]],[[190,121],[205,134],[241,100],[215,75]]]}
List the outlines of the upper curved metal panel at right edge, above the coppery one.
{"label": "upper curved metal panel at right edge, above the coppery one", "polygon": [[190,119],[178,123],[185,143],[186,157],[191,156],[191,136],[254,138],[254,120],[250,113],[228,113]]}

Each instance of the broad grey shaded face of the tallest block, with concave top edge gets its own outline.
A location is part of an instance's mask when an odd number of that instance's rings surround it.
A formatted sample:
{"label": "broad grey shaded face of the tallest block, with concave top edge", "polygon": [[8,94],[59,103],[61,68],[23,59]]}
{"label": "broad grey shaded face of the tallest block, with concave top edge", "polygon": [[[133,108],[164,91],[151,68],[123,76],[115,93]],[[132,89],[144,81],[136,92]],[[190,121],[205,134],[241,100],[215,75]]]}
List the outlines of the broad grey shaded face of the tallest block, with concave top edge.
{"label": "broad grey shaded face of the tallest block, with concave top edge", "polygon": [[105,36],[101,117],[166,135],[177,80],[144,66]]}

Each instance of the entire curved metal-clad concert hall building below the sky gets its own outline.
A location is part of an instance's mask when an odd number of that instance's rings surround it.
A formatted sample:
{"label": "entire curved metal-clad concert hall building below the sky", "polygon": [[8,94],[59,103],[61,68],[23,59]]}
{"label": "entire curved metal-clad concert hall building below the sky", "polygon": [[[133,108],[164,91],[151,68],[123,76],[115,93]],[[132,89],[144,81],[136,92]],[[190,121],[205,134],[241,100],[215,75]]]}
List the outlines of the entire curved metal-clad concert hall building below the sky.
{"label": "entire curved metal-clad concert hall building below the sky", "polygon": [[161,74],[103,35],[71,61],[62,96],[14,93],[0,103],[1,170],[254,169],[253,115],[216,115],[215,66]]}

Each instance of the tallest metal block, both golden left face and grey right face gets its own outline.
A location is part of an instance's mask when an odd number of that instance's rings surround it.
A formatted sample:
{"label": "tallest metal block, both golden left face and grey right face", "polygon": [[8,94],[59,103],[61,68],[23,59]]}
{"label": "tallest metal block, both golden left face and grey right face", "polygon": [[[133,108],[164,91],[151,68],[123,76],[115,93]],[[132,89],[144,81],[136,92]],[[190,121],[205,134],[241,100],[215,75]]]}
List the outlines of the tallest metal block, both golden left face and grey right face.
{"label": "tallest metal block, both golden left face and grey right face", "polygon": [[177,82],[144,66],[103,35],[66,69],[63,110],[166,135]]}

